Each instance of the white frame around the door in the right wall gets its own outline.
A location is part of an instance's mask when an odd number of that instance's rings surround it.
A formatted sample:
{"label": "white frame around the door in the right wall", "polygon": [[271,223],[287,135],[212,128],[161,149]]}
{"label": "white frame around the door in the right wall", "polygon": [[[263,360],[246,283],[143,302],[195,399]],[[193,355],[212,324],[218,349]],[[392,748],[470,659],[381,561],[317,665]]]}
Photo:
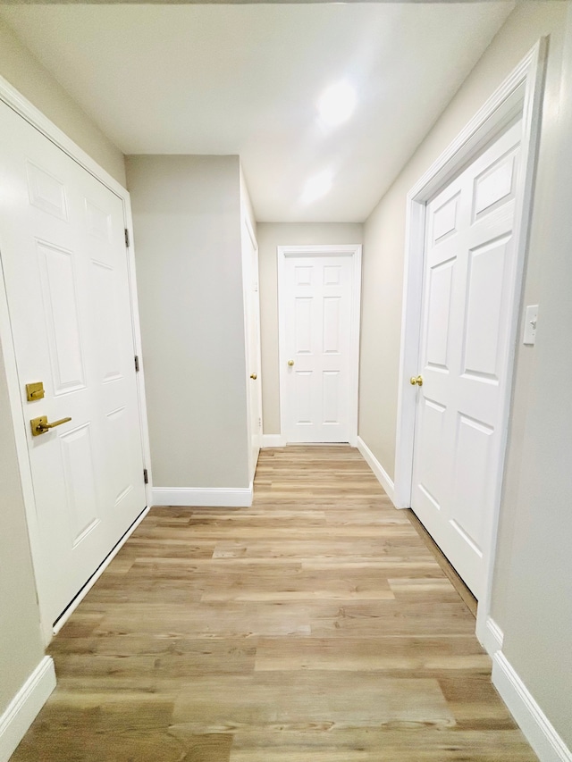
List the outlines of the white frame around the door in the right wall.
{"label": "white frame around the door in the right wall", "polygon": [[509,293],[513,305],[509,327],[509,356],[504,361],[503,376],[506,379],[501,415],[501,468],[495,484],[492,531],[485,540],[486,576],[485,592],[479,601],[476,634],[485,645],[491,639],[487,628],[490,623],[492,594],[492,570],[496,548],[497,529],[501,510],[502,481],[504,474],[509,414],[512,398],[512,378],[517,350],[517,330],[526,264],[526,249],[530,230],[530,217],[534,194],[534,171],[540,121],[543,104],[543,83],[546,68],[547,39],[538,40],[517,68],[489,98],[474,119],[467,124],[437,159],[425,175],[408,192],[405,272],[403,286],[403,311],[401,322],[400,382],[398,397],[398,422],[395,457],[395,505],[404,508],[411,505],[413,476],[413,448],[416,417],[416,395],[411,394],[409,378],[418,373],[421,339],[421,303],[423,295],[423,264],[425,246],[425,205],[444,188],[450,180],[467,166],[497,134],[511,121],[522,117],[522,160],[518,183],[520,202],[515,211],[515,250],[517,277]]}

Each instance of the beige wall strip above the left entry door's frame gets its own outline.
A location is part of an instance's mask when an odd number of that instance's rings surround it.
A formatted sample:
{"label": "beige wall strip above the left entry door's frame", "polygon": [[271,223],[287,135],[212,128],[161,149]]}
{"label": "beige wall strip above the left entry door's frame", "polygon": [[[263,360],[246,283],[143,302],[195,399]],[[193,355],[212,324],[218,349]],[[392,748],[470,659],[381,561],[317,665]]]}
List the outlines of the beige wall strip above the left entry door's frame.
{"label": "beige wall strip above the left entry door's frame", "polygon": [[0,20],[0,76],[69,135],[115,180],[125,185],[122,152],[99,130],[13,30]]}

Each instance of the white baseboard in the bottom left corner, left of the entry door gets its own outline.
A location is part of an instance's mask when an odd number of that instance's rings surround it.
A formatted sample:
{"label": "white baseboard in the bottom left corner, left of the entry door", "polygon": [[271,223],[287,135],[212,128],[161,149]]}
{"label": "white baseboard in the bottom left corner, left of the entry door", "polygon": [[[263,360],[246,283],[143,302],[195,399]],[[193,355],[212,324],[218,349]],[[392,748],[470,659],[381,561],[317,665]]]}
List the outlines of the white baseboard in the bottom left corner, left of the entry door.
{"label": "white baseboard in the bottom left corner, left of the entry door", "polygon": [[54,661],[44,657],[0,716],[0,762],[12,757],[54,689]]}

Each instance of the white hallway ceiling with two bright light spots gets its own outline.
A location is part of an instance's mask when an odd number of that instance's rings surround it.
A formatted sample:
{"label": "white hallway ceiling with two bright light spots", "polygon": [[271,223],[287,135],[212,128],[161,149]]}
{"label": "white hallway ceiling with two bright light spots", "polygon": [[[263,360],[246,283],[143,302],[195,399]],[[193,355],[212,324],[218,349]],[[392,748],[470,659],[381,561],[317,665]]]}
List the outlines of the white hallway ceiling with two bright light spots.
{"label": "white hallway ceiling with two bright light spots", "polygon": [[[362,222],[514,3],[16,4],[0,16],[124,154],[240,154],[258,221]],[[350,80],[324,131],[316,101]],[[332,190],[301,200],[306,180]]]}

